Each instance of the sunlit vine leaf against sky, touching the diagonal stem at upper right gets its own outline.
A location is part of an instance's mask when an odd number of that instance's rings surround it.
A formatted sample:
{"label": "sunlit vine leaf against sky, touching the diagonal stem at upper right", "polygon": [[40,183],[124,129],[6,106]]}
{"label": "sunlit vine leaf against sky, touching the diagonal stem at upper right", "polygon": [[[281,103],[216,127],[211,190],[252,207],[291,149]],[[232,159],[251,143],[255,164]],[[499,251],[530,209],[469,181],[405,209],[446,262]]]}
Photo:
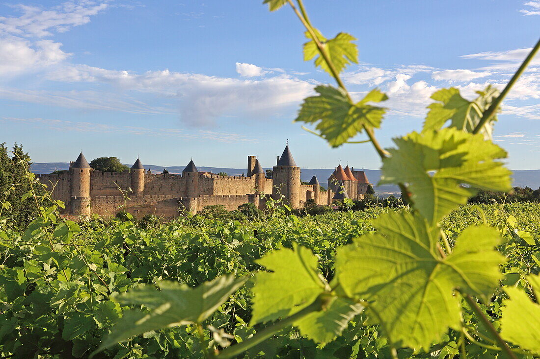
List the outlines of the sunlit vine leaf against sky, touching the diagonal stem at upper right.
{"label": "sunlit vine leaf against sky, touching the diagonal stem at upper right", "polygon": [[[491,105],[491,102],[498,97],[500,92],[495,87],[489,85],[484,91],[476,92],[479,96],[474,101],[462,98],[460,90],[455,87],[442,88],[431,95],[435,103],[428,106],[429,112],[424,122],[424,130],[438,130],[451,120],[450,127],[461,129],[472,133],[484,112]],[[482,133],[486,139],[491,139],[493,123],[497,121],[497,116],[491,119],[482,128]]]}

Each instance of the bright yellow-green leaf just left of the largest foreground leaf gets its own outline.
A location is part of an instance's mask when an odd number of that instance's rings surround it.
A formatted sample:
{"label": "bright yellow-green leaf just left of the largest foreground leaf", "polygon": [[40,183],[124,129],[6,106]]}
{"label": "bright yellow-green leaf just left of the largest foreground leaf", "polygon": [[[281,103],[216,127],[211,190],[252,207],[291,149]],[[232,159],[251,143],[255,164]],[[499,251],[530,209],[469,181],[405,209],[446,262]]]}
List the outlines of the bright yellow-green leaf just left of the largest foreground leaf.
{"label": "bright yellow-green leaf just left of the largest foreground leaf", "polygon": [[328,290],[312,251],[294,243],[293,249],[282,248],[257,260],[272,272],[255,274],[250,325],[299,312]]}

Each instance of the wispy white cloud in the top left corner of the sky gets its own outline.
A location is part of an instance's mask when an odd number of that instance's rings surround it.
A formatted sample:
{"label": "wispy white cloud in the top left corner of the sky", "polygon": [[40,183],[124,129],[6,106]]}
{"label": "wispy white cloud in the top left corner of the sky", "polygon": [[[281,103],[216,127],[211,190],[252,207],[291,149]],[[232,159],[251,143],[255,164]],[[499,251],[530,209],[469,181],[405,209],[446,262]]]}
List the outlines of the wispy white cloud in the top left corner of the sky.
{"label": "wispy white cloud in the top left corner of the sky", "polygon": [[0,16],[0,33],[24,37],[50,36],[51,31],[65,32],[73,26],[90,22],[90,16],[107,8],[107,1],[68,1],[44,10],[38,6],[15,5],[22,11],[19,17]]}

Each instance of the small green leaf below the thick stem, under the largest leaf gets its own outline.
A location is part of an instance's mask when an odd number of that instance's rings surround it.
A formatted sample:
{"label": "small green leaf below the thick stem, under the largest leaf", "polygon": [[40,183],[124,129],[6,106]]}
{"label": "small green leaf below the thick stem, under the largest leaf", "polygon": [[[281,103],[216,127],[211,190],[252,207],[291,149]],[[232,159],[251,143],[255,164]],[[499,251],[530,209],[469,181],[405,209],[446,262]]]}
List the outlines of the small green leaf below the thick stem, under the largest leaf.
{"label": "small green leaf below the thick stem, under the largest leaf", "polygon": [[348,298],[334,296],[330,300],[325,310],[313,312],[293,323],[300,329],[302,335],[323,346],[340,335],[343,329],[347,328],[349,321],[364,308]]}

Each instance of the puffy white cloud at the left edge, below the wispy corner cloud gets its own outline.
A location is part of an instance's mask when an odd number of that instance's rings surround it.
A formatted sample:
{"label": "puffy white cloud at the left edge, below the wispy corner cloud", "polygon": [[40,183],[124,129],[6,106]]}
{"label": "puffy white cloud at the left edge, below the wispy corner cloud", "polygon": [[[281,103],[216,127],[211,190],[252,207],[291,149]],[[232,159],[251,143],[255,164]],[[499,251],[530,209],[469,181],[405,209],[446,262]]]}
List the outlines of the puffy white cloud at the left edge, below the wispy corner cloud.
{"label": "puffy white cloud at the left edge, below the wispy corner cloud", "polygon": [[39,71],[65,60],[70,54],[60,50],[61,45],[52,40],[31,44],[16,37],[0,38],[0,76]]}

